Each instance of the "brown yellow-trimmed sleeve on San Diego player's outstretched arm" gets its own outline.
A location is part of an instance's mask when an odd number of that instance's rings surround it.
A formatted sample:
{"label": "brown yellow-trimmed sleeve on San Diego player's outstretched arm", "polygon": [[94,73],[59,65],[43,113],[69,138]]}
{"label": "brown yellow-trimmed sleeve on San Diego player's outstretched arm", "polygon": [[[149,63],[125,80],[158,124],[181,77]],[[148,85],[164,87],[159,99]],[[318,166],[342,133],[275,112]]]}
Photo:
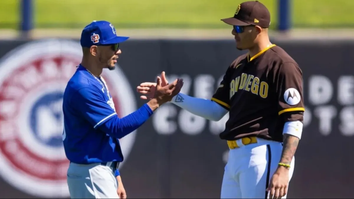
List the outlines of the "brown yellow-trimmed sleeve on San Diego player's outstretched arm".
{"label": "brown yellow-trimmed sleeve on San Diego player's outstretched arm", "polygon": [[230,68],[229,67],[211,100],[230,110]]}

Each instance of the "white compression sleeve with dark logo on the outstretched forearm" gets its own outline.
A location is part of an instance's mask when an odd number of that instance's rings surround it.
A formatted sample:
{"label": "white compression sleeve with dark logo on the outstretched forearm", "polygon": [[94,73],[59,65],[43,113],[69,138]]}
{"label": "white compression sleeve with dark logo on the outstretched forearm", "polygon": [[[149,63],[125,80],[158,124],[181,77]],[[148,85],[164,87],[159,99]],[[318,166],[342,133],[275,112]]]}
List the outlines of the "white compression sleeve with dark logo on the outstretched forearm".
{"label": "white compression sleeve with dark logo on the outstretched forearm", "polygon": [[210,99],[191,97],[183,93],[178,93],[171,102],[177,106],[212,121],[219,121],[228,112],[218,103]]}

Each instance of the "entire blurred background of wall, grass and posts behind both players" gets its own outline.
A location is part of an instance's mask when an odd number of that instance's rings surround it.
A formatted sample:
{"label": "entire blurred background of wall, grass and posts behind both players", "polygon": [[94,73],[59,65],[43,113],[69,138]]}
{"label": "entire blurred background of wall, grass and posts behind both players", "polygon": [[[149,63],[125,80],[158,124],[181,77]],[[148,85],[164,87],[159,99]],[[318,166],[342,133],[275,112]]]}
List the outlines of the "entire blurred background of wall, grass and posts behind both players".
{"label": "entire blurred background of wall, grass and posts behind both players", "polygon": [[[229,25],[242,0],[1,0],[0,198],[69,198],[62,146],[62,96],[81,62],[79,38],[93,20],[111,22],[120,45],[104,71],[116,110],[145,101],[136,86],[184,79],[183,93],[211,98],[235,48]],[[353,198],[354,1],[261,0],[270,38],[304,78],[303,137],[288,198]],[[128,198],[219,198],[227,143],[212,122],[164,104],[121,139]]]}

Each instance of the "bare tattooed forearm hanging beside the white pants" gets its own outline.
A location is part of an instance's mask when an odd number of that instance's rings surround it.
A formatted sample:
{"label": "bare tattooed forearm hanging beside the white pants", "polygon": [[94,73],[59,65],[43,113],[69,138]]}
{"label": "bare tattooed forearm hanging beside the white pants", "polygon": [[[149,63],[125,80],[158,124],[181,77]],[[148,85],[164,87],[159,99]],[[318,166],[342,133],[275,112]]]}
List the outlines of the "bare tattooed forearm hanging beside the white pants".
{"label": "bare tattooed forearm hanging beside the white pants", "polygon": [[280,162],[290,164],[295,155],[297,145],[299,144],[299,138],[289,134],[284,134],[283,137],[283,151],[281,153]]}

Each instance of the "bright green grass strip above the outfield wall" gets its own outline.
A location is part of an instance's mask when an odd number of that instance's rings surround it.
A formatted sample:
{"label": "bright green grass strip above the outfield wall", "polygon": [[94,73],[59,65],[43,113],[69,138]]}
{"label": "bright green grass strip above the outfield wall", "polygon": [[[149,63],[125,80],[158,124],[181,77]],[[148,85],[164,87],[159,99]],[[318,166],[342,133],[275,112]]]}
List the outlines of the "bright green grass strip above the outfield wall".
{"label": "bright green grass strip above the outfield wall", "polygon": [[[37,28],[82,28],[107,20],[119,28],[225,28],[243,0],[33,0]],[[277,24],[278,0],[260,0]],[[0,0],[0,28],[17,29],[20,0]],[[293,27],[354,27],[352,0],[292,0]]]}

